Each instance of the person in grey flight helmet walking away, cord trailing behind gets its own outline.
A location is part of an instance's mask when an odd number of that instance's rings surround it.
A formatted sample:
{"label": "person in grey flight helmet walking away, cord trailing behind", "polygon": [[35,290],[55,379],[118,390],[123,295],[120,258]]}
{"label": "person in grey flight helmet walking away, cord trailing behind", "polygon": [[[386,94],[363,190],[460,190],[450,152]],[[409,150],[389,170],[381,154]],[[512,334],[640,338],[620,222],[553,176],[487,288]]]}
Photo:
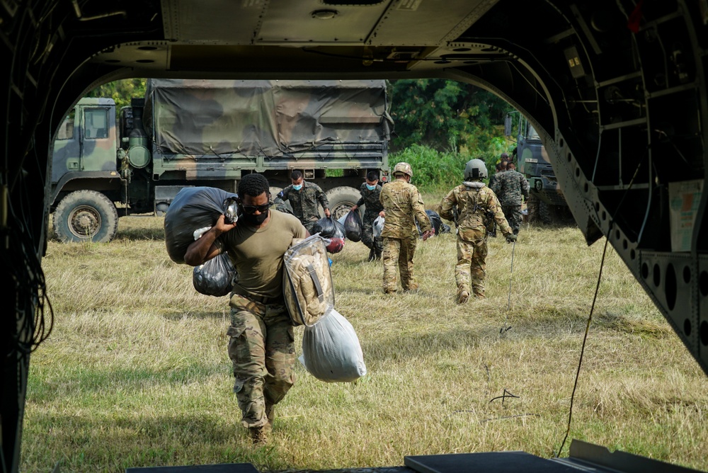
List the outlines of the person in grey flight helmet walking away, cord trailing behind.
{"label": "person in grey flight helmet walking away, cord trailing behind", "polygon": [[[493,215],[499,229],[507,241],[516,241],[516,235],[506,222],[496,195],[486,187],[486,164],[481,159],[467,161],[464,166],[464,182],[450,190],[440,203],[440,217],[457,220],[457,303],[464,304],[474,294],[484,299],[484,278],[486,276],[486,215]],[[470,291],[472,284],[472,291]]]}

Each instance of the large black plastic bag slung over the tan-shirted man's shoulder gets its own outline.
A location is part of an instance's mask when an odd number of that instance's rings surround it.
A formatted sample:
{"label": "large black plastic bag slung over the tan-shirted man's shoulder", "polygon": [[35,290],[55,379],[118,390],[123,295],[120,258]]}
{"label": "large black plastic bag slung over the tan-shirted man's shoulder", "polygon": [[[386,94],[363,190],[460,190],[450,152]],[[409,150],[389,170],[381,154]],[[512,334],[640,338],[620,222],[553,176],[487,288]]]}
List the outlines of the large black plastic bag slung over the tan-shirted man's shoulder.
{"label": "large black plastic bag slung over the tan-shirted man's shoulder", "polygon": [[238,195],[213,187],[185,187],[165,214],[165,245],[170,259],[184,264],[184,253],[194,241],[195,230],[211,227],[234,207]]}

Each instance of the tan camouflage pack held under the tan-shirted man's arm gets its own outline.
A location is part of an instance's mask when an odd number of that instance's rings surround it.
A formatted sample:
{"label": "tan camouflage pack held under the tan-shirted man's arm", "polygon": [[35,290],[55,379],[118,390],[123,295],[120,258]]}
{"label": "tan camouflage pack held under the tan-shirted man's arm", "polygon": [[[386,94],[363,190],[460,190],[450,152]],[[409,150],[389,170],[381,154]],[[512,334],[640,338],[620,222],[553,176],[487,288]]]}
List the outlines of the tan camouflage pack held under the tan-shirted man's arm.
{"label": "tan camouflage pack held under the tan-shirted man's arm", "polygon": [[325,244],[319,234],[294,239],[283,255],[282,292],[294,326],[312,326],[334,308],[334,285]]}

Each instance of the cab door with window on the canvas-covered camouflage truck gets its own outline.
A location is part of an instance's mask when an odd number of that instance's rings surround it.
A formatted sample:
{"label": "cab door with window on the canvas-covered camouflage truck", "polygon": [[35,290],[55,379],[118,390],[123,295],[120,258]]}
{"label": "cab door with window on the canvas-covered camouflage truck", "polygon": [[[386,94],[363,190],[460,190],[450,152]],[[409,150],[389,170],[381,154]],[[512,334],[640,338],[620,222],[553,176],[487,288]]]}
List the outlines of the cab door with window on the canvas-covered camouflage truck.
{"label": "cab door with window on the canvas-covered camouflage truck", "polygon": [[79,171],[115,171],[115,116],[110,107],[84,108]]}

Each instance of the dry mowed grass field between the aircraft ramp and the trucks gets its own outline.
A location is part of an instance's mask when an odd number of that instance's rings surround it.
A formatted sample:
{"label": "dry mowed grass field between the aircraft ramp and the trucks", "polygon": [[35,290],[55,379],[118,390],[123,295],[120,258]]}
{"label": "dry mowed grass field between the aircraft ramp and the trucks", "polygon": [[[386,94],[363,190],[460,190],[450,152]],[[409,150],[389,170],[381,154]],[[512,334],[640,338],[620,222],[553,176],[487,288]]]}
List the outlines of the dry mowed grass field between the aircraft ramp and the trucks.
{"label": "dry mowed grass field between the aircraft ramp and the trucks", "polygon": [[[382,294],[382,266],[348,242],[332,256],[336,308],[367,375],[326,383],[298,363],[270,442],[254,448],[232,393],[227,297],[194,290],[193,268],[167,255],[162,222],[122,217],[110,244],[50,242],[42,266],[55,325],[31,360],[21,471],[558,452],[604,240],[588,247],[576,228],[525,226],[510,277],[513,246],[490,239],[487,299],[464,306],[454,234],[419,242],[421,291],[393,297]],[[501,399],[505,390],[515,397]],[[561,456],[577,438],[708,469],[707,419],[708,378],[610,248]]]}

